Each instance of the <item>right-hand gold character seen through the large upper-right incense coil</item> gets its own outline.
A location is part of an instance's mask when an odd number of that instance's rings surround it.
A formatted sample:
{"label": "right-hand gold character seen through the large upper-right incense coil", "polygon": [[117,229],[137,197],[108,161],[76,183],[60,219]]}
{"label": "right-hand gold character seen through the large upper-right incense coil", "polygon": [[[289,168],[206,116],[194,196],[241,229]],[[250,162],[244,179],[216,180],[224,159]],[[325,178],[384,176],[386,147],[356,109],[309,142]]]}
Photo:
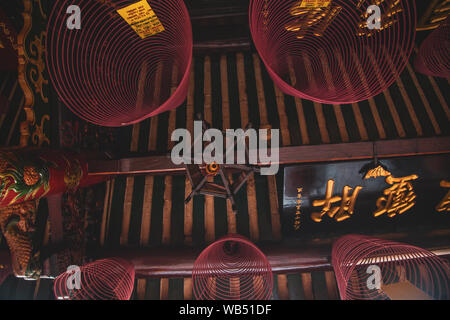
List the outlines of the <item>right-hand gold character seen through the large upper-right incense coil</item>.
{"label": "right-hand gold character seen through the large upper-right incense coil", "polygon": [[[357,8],[360,8],[362,6],[363,2],[364,1],[361,0],[358,3]],[[394,16],[403,11],[400,0],[372,0],[369,5],[380,6],[382,3],[385,3],[385,2],[386,2],[387,10],[384,13],[382,13],[381,17],[379,18],[381,27],[379,29],[369,29],[368,25],[367,25],[367,21],[368,21],[370,15],[367,13],[367,11],[365,11],[361,15],[361,18],[363,19],[363,21],[359,23],[359,31],[357,33],[358,36],[370,37],[370,36],[374,35],[375,31],[377,31],[377,32],[382,31],[384,29],[389,28],[394,23],[397,23],[397,20],[395,20]]]}

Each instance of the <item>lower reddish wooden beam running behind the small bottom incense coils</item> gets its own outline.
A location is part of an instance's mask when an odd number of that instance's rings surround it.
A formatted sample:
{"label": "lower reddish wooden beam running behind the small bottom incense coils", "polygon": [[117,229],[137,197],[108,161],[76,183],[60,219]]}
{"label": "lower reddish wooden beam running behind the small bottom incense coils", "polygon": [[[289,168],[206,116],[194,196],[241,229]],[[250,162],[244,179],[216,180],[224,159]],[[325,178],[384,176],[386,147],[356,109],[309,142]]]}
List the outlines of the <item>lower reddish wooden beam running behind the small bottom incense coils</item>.
{"label": "lower reddish wooden beam running behind the small bottom incense coils", "polygon": [[[450,258],[450,230],[433,231],[417,236],[414,234],[396,233],[381,234],[377,238],[391,239],[426,248],[434,254]],[[331,247],[336,239],[327,239],[319,243],[305,243],[303,246],[288,244],[264,245],[259,247],[267,256],[272,271],[276,274],[298,273],[332,270]],[[201,248],[159,247],[141,249],[106,250],[99,254],[102,257],[115,256],[132,261],[137,278],[152,277],[190,277],[195,259]]]}

